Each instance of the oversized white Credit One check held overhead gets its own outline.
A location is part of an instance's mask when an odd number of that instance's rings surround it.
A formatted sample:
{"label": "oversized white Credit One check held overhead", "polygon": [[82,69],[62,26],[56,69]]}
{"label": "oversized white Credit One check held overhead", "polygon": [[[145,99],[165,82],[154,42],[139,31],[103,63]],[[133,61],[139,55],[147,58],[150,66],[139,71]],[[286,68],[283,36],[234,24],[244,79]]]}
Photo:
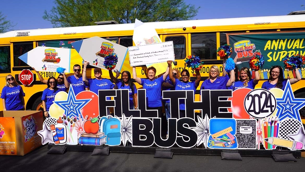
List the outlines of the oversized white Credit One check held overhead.
{"label": "oversized white Credit One check held overhead", "polygon": [[173,41],[128,47],[130,66],[174,60]]}

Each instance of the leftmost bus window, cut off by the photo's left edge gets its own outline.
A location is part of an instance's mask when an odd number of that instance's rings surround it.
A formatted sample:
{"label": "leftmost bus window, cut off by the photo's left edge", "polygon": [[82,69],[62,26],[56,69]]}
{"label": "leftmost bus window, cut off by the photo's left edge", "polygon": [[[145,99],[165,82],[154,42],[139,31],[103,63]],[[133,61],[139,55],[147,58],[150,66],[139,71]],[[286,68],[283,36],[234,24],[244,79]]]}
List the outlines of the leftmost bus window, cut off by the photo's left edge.
{"label": "leftmost bus window, cut off by the photo's left edge", "polygon": [[0,73],[10,73],[10,48],[9,46],[0,46]]}

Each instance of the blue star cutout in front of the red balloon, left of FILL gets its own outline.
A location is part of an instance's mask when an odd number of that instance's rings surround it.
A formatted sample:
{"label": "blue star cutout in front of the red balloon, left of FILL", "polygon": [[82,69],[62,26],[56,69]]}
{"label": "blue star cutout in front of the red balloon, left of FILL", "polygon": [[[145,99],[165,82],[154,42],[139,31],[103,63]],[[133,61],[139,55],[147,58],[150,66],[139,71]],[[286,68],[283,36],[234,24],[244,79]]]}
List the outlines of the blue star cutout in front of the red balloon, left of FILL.
{"label": "blue star cutout in front of the red balloon, left of FILL", "polygon": [[[74,118],[78,119],[78,115],[81,114],[81,109],[84,108],[86,104],[88,104],[89,101],[92,99],[81,99],[77,100],[75,98],[75,94],[73,91],[73,87],[70,86],[69,92],[68,92],[68,98],[66,101],[53,101],[56,103],[59,107],[61,107],[63,110],[65,110],[65,115],[71,119],[73,116]],[[81,118],[83,118],[83,115],[81,114]]]}

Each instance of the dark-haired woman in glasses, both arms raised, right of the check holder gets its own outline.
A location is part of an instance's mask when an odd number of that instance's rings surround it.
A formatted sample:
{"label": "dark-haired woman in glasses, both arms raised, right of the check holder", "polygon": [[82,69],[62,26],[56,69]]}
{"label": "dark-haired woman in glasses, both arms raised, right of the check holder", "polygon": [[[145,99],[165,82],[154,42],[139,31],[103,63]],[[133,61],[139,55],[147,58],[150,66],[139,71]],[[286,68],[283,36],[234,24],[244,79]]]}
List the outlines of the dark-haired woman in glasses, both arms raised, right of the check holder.
{"label": "dark-haired woman in glasses, both arms raised, right of the check holder", "polygon": [[[175,90],[194,90],[194,96],[195,96],[196,89],[199,86],[199,82],[201,80],[201,75],[199,70],[196,70],[196,80],[191,82],[189,81],[190,73],[188,72],[188,70],[187,69],[182,70],[181,71],[182,82],[181,82],[179,79],[174,78],[171,69],[171,64],[168,65],[169,65],[169,78],[173,83],[173,85],[175,86]],[[179,100],[179,112],[180,112],[179,118],[185,117],[185,99]]]}

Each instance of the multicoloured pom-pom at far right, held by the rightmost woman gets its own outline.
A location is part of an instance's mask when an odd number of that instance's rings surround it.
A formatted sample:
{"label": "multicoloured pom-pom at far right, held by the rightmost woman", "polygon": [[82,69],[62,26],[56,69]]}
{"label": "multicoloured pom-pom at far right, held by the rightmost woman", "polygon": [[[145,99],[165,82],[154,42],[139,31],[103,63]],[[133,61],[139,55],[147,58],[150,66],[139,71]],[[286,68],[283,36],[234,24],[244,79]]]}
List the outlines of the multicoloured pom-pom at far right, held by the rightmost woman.
{"label": "multicoloured pom-pom at far right, held by the rightmost woman", "polygon": [[296,68],[302,68],[305,64],[305,57],[302,55],[292,55],[291,57],[285,57],[283,60],[285,68],[287,70],[292,70]]}

